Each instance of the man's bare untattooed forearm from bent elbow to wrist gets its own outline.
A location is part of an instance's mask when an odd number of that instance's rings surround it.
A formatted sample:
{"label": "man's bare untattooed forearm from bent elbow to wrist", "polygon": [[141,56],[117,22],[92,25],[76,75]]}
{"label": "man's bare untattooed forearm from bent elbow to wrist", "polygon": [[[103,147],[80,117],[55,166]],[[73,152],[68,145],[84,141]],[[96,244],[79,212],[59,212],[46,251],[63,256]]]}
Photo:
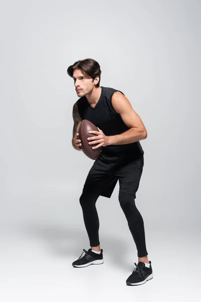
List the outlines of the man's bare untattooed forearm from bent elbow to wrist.
{"label": "man's bare untattooed forearm from bent elbow to wrist", "polygon": [[133,127],[121,134],[108,136],[108,145],[132,143],[146,137],[147,131],[145,129],[141,130]]}

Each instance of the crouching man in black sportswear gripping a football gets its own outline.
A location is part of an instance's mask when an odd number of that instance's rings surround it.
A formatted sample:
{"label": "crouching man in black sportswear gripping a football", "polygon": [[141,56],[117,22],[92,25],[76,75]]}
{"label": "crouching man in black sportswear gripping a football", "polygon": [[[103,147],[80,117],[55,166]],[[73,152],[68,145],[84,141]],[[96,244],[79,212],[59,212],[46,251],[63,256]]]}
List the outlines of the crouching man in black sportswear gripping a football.
{"label": "crouching man in black sportswear gripping a football", "polygon": [[144,165],[144,151],[139,140],[147,137],[147,130],[122,92],[99,86],[101,70],[98,62],[89,58],[79,60],[68,67],[67,73],[73,78],[79,97],[73,106],[72,145],[76,150],[82,150],[77,136],[80,122],[87,119],[99,130],[89,131],[94,136],[88,138],[88,143],[93,149],[102,147],[79,199],[90,249],[83,249],[84,256],[81,257],[81,254],[72,265],[85,267],[104,262],[95,203],[100,195],[110,198],[119,180],[119,202],[138,251],[138,265],[135,263],[136,267],[126,284],[144,284],[153,278],[153,274],[151,261],[147,257],[144,221],[135,205],[135,198]]}

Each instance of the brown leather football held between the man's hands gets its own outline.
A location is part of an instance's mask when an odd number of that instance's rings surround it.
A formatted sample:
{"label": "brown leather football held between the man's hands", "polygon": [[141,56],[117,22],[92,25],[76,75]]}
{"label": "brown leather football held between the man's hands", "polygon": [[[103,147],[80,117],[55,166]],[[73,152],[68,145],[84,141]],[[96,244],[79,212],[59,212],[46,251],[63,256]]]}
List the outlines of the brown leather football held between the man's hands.
{"label": "brown leather football held between the man's hands", "polygon": [[79,135],[77,136],[77,139],[81,140],[81,148],[83,153],[91,160],[96,160],[101,152],[102,147],[99,147],[97,149],[92,149],[92,147],[96,146],[97,143],[89,145],[89,141],[92,140],[87,140],[88,137],[95,136],[96,134],[88,133],[88,131],[98,131],[98,128],[88,120],[83,120],[80,123],[78,133]]}

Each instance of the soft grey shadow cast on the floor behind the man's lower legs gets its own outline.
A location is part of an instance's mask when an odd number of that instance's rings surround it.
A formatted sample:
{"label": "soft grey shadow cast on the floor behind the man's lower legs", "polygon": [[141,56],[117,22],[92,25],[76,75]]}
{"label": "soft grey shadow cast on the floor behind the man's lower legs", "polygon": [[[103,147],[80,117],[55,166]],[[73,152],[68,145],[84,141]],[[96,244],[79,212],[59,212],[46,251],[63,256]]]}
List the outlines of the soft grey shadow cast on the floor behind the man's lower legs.
{"label": "soft grey shadow cast on the floor behind the man's lower legs", "polygon": [[[29,237],[46,242],[48,252],[60,257],[72,257],[73,261],[81,255],[83,249],[88,250],[90,248],[86,231],[75,229],[71,226],[36,224],[26,226],[26,230],[23,230],[24,232]],[[135,250],[133,262],[131,263],[128,260],[128,243],[121,238],[102,235],[100,248],[103,248],[105,259],[107,256],[108,261],[123,269],[131,270],[134,262],[137,261]],[[133,248],[135,249],[135,245],[133,245]]]}

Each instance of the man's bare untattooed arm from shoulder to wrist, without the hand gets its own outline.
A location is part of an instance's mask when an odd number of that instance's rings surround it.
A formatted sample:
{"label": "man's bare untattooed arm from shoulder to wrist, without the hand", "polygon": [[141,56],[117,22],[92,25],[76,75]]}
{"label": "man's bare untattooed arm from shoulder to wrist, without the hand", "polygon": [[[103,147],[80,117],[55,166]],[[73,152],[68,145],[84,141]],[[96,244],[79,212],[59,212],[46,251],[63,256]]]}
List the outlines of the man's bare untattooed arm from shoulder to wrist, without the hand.
{"label": "man's bare untattooed arm from shoulder to wrist, without the hand", "polygon": [[121,134],[108,136],[108,145],[127,144],[147,138],[147,130],[140,116],[133,110],[131,103],[121,92],[118,91],[113,94],[112,105],[130,129]]}

